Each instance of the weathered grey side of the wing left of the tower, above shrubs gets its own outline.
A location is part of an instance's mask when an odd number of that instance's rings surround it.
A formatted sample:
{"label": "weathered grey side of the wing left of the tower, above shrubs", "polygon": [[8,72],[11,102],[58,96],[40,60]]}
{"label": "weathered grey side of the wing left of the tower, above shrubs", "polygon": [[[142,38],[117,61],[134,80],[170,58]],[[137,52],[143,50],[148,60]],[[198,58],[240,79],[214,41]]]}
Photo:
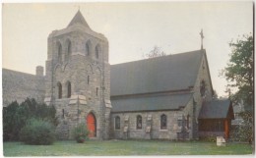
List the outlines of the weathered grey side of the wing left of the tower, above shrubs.
{"label": "weathered grey side of the wing left of the tower, above shrubs", "polygon": [[43,102],[45,93],[43,76],[2,69],[2,81],[4,107],[15,100],[21,103],[27,97]]}

